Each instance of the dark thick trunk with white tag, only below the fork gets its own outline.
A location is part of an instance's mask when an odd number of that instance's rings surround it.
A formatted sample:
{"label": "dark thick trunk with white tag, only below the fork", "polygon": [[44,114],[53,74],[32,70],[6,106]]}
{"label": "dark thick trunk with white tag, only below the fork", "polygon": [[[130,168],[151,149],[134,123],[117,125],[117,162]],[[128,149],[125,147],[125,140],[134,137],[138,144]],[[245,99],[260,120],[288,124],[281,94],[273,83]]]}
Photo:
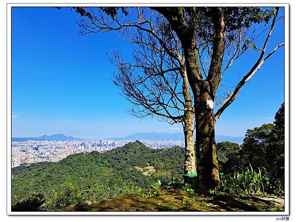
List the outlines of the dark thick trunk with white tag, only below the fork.
{"label": "dark thick trunk with white tag, only below the fork", "polygon": [[207,108],[207,100],[214,101],[208,84],[202,88],[195,100],[195,129],[198,181],[206,189],[217,189],[220,186],[220,172],[215,146],[215,122],[213,109]]}

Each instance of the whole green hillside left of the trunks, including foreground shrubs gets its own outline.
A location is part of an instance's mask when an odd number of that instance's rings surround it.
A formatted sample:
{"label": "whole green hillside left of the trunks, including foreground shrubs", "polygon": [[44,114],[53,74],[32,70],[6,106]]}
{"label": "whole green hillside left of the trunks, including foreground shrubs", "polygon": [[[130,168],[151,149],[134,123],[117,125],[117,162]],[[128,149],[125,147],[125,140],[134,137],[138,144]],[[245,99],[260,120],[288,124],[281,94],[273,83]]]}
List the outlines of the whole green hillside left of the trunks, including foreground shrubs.
{"label": "whole green hillside left of the trunks, including foreground shrubs", "polygon": [[79,153],[57,163],[16,167],[12,169],[13,209],[42,205],[43,210],[56,210],[83,200],[134,193],[157,186],[160,177],[181,177],[183,164],[183,148],[151,149],[136,141],[105,153]]}

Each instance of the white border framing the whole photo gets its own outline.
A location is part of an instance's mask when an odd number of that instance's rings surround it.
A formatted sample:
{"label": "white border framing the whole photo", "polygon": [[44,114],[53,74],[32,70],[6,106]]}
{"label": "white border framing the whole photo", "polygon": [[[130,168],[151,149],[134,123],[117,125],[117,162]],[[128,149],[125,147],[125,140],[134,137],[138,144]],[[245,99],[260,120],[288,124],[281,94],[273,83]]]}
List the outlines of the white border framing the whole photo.
{"label": "white border framing the whole photo", "polygon": [[[213,215],[213,216],[242,216],[242,215],[253,215],[253,216],[287,216],[290,215],[290,13],[289,3],[167,3],[153,0],[151,3],[138,3],[135,1],[126,1],[127,3],[121,2],[102,2],[102,3],[7,3],[6,7],[6,167],[7,167],[7,197],[6,197],[6,214],[7,215]],[[153,2],[153,3],[152,3]],[[211,2],[211,3],[210,3]],[[269,2],[272,2],[271,0]],[[12,93],[12,82],[11,82],[11,8],[12,7],[67,7],[67,6],[262,6],[262,7],[284,7],[285,8],[285,47],[284,47],[284,72],[285,72],[285,211],[284,212],[12,212],[11,211],[11,125],[12,125],[12,114],[11,114],[11,93]]]}

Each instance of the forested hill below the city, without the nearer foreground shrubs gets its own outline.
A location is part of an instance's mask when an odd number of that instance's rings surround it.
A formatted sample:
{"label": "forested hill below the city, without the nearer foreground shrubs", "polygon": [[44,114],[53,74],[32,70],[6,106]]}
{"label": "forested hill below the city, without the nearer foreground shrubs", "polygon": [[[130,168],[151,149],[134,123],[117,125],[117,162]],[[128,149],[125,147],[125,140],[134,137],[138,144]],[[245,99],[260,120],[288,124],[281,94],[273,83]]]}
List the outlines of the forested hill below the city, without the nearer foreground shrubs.
{"label": "forested hill below the city, without the nearer foreground shrubs", "polygon": [[13,204],[33,194],[59,190],[67,183],[80,190],[96,185],[116,189],[124,183],[151,188],[160,177],[180,177],[183,164],[184,148],[151,149],[136,141],[105,153],[79,153],[56,163],[19,166],[12,169]]}

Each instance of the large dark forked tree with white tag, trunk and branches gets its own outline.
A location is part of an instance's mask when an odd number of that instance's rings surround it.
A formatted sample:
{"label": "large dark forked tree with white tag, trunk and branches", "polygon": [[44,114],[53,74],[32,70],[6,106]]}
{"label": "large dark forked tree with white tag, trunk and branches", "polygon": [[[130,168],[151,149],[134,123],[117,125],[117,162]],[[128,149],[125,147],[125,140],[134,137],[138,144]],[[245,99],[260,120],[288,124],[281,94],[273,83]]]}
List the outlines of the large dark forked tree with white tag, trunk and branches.
{"label": "large dark forked tree with white tag, trunk and branches", "polygon": [[[262,10],[258,7],[150,7],[141,10],[130,7],[74,7],[82,15],[77,24],[83,33],[101,31],[118,31],[121,33],[139,30],[153,36],[160,50],[178,61],[185,70],[189,87],[193,95],[193,110],[196,131],[196,154],[198,160],[198,179],[200,185],[207,188],[218,188],[220,185],[219,165],[215,148],[215,122],[222,112],[236,99],[242,86],[259,70],[281,43],[266,53],[268,40],[278,20],[276,9]],[[165,27],[155,25],[154,13],[166,19]],[[248,30],[254,23],[271,24],[262,46],[251,44],[254,39],[244,39],[242,31]],[[168,42],[163,41],[154,30],[163,29],[163,34],[177,38],[180,51],[171,51]],[[161,33],[160,33],[161,34]],[[170,40],[169,39],[169,40]],[[237,44],[235,44],[238,42]],[[236,58],[242,55],[249,46],[259,53],[249,72],[237,83],[232,92],[222,100],[221,106],[214,113],[213,103],[217,99],[219,86],[225,71]],[[229,49],[228,53],[227,50]],[[226,57],[226,58],[225,58]],[[217,100],[216,100],[217,101]],[[220,100],[219,100],[220,101]],[[186,109],[186,108],[185,108]]]}

